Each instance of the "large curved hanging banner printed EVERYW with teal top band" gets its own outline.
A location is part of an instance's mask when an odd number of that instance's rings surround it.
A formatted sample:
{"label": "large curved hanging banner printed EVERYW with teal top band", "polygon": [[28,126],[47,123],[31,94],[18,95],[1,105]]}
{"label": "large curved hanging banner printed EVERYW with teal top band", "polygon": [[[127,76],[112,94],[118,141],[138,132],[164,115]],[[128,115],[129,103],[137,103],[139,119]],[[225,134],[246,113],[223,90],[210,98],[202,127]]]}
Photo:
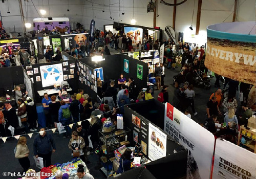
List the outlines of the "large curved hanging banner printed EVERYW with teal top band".
{"label": "large curved hanging banner printed EVERYW with teal top band", "polygon": [[256,84],[255,21],[207,27],[205,66],[219,75]]}

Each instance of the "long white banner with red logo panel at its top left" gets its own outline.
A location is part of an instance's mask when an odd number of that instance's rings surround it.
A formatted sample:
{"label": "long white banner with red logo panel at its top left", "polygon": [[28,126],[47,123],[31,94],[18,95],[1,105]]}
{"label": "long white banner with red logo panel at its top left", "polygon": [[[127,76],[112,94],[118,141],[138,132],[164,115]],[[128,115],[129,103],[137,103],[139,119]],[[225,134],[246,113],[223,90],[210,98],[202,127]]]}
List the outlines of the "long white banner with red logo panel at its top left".
{"label": "long white banner with red logo panel at its top left", "polygon": [[164,131],[188,149],[187,179],[209,178],[214,135],[169,103],[165,103]]}

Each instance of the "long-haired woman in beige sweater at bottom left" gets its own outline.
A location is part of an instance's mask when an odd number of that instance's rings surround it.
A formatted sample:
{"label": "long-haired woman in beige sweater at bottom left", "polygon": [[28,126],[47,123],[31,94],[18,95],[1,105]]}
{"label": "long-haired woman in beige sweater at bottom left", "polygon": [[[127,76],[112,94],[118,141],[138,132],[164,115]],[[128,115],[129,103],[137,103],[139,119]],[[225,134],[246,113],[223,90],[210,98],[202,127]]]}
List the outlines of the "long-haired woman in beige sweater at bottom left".
{"label": "long-haired woman in beige sweater at bottom left", "polygon": [[27,138],[24,136],[19,137],[18,143],[15,148],[15,158],[18,159],[19,164],[23,168],[23,173],[28,171],[30,167],[29,149],[27,146]]}

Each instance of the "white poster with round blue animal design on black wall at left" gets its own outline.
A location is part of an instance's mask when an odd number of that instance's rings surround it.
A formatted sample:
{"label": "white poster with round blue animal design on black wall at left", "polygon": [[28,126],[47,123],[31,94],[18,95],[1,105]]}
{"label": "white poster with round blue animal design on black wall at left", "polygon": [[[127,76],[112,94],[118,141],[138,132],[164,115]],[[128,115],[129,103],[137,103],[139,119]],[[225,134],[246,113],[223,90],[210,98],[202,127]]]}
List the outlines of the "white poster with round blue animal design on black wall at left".
{"label": "white poster with round blue animal design on black wall at left", "polygon": [[62,63],[40,66],[42,87],[63,81]]}

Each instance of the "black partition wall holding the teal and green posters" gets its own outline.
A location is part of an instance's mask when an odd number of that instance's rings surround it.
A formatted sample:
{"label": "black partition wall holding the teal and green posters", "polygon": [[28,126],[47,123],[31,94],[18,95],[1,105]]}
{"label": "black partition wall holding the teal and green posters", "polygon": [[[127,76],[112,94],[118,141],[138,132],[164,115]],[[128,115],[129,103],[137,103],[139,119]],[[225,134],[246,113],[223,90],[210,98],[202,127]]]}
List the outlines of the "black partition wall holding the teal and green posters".
{"label": "black partition wall holding the teal and green posters", "polygon": [[[91,57],[86,57],[79,60],[88,64],[93,69],[102,67],[104,81],[109,82],[109,80],[115,80],[116,87],[118,87],[117,81],[120,77],[120,74],[123,74],[127,81],[129,77],[133,77],[137,89],[142,89],[143,87],[146,87],[147,63],[133,59],[132,57],[124,54],[106,55],[104,56],[104,58],[105,60],[99,62],[92,61]],[[129,61],[129,73],[124,72],[124,59]],[[137,78],[138,64],[143,66],[142,79]]]}

